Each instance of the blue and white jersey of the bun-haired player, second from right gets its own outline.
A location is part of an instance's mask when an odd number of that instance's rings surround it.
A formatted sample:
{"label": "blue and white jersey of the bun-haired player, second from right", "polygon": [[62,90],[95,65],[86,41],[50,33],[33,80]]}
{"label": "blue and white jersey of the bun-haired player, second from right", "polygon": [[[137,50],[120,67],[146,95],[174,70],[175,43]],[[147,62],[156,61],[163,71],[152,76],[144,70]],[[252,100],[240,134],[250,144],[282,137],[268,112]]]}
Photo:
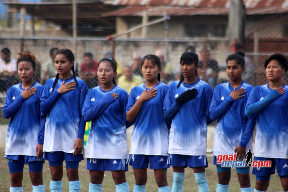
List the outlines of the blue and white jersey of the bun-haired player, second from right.
{"label": "blue and white jersey of the bun-haired player, second from right", "polygon": [[246,92],[244,97],[236,101],[229,96],[234,90],[230,82],[222,83],[214,88],[210,105],[210,118],[213,121],[218,119],[213,145],[213,155],[215,156],[234,154],[247,126],[248,129],[252,129],[252,132],[247,138],[248,142],[245,142],[242,147],[246,147],[247,152],[249,149],[252,150],[251,136],[255,124],[248,122],[248,117],[245,116],[245,105],[253,86],[242,81],[240,87],[236,88],[235,91],[239,88],[245,88]]}

